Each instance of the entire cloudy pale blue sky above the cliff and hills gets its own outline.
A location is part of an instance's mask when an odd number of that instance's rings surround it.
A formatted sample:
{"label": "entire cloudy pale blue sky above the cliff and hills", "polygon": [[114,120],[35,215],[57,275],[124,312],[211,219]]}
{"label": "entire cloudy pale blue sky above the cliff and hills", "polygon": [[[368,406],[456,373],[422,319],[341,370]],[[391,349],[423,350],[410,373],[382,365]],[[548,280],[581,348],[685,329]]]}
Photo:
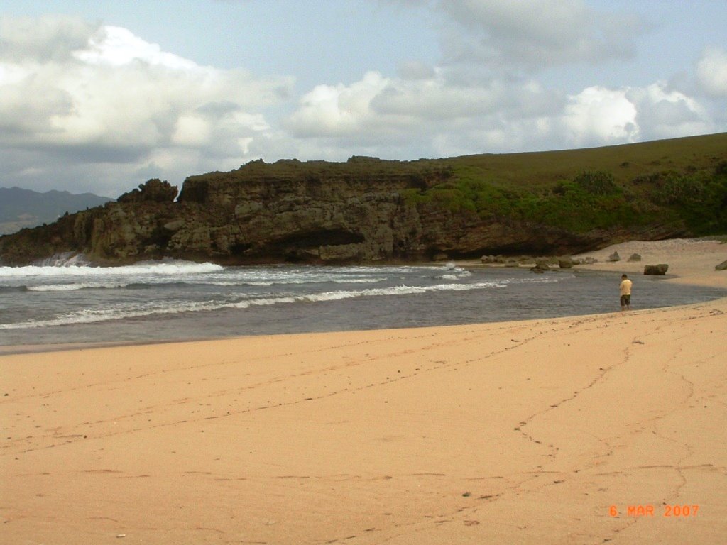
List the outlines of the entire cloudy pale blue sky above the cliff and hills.
{"label": "entire cloudy pale blue sky above the cliff and hills", "polygon": [[723,0],[0,0],[0,187],[727,131]]}

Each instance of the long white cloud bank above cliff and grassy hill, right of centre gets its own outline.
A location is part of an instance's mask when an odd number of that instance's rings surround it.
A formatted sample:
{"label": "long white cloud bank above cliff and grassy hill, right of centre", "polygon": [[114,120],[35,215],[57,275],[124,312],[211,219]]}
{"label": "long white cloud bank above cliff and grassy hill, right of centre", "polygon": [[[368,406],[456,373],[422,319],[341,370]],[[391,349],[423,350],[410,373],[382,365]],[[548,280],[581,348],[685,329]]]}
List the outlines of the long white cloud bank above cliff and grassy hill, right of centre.
{"label": "long white cloud bank above cliff and grassy hill, right of centre", "polygon": [[589,86],[562,97],[534,80],[462,84],[443,69],[431,78],[368,73],[348,86],[318,86],[289,125],[299,150],[343,156],[365,148],[394,158],[591,147],[716,129],[694,97],[663,83]]}

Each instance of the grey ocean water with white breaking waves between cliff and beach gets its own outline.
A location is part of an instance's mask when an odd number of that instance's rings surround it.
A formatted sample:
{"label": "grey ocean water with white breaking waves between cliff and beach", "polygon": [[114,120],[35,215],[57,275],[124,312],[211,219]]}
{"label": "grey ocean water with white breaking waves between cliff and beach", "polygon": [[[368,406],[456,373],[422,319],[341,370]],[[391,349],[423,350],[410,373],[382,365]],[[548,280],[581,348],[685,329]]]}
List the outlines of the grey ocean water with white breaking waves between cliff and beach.
{"label": "grey ocean water with white breaking waves between cliff and beach", "polygon": [[[634,310],[726,296],[636,277]],[[614,312],[619,274],[400,266],[222,267],[168,260],[0,267],[0,345],[157,342],[445,326]]]}

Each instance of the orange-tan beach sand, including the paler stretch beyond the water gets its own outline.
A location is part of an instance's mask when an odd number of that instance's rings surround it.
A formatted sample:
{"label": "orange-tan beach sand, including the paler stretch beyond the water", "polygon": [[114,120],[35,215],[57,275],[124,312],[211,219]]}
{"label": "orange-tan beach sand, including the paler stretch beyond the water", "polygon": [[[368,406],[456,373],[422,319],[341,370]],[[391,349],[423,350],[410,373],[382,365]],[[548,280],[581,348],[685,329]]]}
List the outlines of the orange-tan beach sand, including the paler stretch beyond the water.
{"label": "orange-tan beach sand, including the paler stretch beyond the water", "polygon": [[0,542],[723,543],[726,339],[720,299],[5,355]]}

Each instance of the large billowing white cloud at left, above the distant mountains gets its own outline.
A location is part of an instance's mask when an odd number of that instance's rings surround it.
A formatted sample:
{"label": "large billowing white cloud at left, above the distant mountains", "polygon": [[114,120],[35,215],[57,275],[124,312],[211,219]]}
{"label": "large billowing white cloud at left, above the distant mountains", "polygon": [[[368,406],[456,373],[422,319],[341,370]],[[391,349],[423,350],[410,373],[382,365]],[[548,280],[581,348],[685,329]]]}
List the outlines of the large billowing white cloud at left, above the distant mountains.
{"label": "large billowing white cloud at left, above the distant mountains", "polygon": [[48,171],[117,163],[119,192],[137,183],[122,175],[152,164],[180,178],[238,166],[270,129],[263,110],[292,88],[292,78],[197,65],[124,28],[69,17],[0,25],[0,147]]}

